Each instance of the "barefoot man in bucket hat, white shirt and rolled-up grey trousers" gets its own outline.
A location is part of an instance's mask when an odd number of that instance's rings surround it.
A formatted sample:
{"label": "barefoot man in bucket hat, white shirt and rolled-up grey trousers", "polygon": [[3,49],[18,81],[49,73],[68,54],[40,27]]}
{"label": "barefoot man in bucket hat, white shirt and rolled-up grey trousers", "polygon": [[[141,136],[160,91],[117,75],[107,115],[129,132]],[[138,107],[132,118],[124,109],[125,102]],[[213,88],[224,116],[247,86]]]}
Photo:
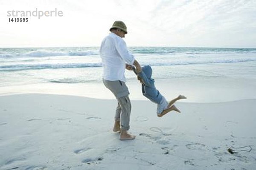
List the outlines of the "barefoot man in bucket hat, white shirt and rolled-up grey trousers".
{"label": "barefoot man in bucket hat, white shirt and rolled-up grey trousers", "polygon": [[102,40],[100,56],[103,64],[103,83],[118,102],[113,131],[120,131],[120,140],[133,140],[135,136],[127,133],[130,128],[131,102],[125,85],[125,68],[132,70],[131,65],[134,65],[136,71],[140,72],[141,67],[129,53],[122,39],[127,34],[125,23],[115,21],[109,31],[111,33]]}

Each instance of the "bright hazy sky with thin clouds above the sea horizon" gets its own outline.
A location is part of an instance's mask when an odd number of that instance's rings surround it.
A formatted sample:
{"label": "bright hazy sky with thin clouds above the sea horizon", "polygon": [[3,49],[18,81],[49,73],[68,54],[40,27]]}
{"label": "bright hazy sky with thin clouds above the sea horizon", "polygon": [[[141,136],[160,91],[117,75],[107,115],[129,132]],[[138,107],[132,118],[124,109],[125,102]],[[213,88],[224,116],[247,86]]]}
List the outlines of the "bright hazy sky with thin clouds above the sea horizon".
{"label": "bright hazy sky with thin clouds above the sea horizon", "polygon": [[[62,11],[9,22],[8,11]],[[99,46],[115,20],[127,46],[256,48],[256,0],[0,0],[0,48]]]}

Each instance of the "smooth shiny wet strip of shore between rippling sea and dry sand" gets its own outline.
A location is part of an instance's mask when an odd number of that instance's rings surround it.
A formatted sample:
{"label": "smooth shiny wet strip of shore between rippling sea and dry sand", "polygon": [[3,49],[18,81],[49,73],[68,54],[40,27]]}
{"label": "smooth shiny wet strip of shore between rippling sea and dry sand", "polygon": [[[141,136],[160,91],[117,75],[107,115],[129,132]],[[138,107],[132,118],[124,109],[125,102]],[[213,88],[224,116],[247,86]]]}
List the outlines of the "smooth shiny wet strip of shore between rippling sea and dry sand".
{"label": "smooth shiny wet strip of shore between rippling sea and dry sand", "polygon": [[[129,79],[126,82],[130,91],[131,100],[148,101],[142,92],[140,83],[137,80]],[[179,94],[188,99],[184,102],[229,102],[242,99],[256,99],[256,81],[241,78],[180,78],[180,79],[157,79],[157,89],[171,100]],[[0,96],[13,94],[58,94],[70,96],[83,96],[95,99],[115,99],[113,94],[103,85],[102,82],[88,83],[36,83],[27,85],[15,85],[0,87]]]}

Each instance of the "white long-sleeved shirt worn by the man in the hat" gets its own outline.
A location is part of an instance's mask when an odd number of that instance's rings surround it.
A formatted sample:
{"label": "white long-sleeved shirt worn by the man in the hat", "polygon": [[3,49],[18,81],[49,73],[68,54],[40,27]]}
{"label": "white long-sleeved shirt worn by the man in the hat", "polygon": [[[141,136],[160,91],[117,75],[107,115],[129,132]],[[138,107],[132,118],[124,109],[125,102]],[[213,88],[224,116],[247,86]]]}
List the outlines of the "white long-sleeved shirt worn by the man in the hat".
{"label": "white long-sleeved shirt worn by the man in the hat", "polygon": [[103,65],[103,79],[126,82],[125,63],[133,64],[134,56],[129,53],[125,41],[114,33],[102,40],[99,50]]}

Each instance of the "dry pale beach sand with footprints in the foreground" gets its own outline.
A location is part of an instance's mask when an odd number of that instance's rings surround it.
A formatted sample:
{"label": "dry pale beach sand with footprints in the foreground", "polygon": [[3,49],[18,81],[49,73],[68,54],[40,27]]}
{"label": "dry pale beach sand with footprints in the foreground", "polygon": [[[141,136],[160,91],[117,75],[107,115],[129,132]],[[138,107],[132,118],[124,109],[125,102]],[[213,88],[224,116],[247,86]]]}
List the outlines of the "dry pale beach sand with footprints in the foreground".
{"label": "dry pale beach sand with footprints in the foreground", "polygon": [[115,100],[1,96],[0,170],[255,169],[256,99],[177,102],[182,113],[162,118],[155,104],[131,102],[137,138],[120,141],[111,131]]}

